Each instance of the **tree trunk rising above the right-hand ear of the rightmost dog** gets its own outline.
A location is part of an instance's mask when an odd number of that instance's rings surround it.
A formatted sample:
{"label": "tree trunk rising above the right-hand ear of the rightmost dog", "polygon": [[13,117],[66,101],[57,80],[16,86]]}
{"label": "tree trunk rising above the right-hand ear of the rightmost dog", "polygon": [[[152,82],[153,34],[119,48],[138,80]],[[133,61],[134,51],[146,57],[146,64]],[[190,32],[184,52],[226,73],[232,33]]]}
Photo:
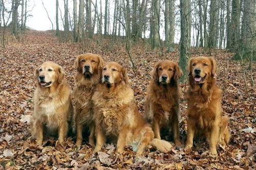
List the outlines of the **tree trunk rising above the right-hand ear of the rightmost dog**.
{"label": "tree trunk rising above the right-hand ear of the rightmost dog", "polygon": [[209,26],[209,48],[216,48],[217,27],[217,0],[211,0],[210,4],[210,26]]}

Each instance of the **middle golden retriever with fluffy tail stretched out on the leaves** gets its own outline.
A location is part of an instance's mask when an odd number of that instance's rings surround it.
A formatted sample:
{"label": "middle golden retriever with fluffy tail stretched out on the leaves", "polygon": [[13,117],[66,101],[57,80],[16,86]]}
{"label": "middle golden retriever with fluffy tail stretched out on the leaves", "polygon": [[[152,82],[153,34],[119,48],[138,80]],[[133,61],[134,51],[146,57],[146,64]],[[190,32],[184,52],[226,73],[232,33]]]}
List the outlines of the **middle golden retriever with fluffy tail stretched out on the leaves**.
{"label": "middle golden retriever with fluffy tail stretched out on the leaves", "polygon": [[172,145],[153,139],[154,133],[134,104],[133,90],[129,86],[127,70],[116,62],[108,62],[102,70],[102,81],[92,96],[96,146],[101,150],[107,137],[117,138],[116,152],[123,153],[130,145],[136,154],[143,154],[148,144],[161,152],[168,152]]}

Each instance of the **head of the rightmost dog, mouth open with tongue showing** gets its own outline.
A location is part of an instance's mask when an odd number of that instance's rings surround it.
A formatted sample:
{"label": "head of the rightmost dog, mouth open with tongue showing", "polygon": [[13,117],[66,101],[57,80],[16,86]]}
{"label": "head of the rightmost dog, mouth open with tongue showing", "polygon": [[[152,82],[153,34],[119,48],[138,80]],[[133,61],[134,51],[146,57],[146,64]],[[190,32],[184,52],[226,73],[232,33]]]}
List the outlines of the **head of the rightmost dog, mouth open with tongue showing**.
{"label": "head of the rightmost dog, mouth open with tongue showing", "polygon": [[188,73],[196,84],[202,84],[209,77],[214,77],[216,71],[217,65],[213,57],[193,57],[189,60]]}

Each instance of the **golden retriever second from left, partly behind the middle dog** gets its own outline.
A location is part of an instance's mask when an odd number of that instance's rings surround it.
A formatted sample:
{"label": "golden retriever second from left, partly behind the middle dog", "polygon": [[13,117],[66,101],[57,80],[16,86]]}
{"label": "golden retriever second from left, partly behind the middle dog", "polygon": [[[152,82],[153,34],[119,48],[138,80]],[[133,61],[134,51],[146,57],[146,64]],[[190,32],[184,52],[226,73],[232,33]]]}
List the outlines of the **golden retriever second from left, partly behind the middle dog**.
{"label": "golden retriever second from left, partly behind the middle dog", "polygon": [[76,57],[74,76],[74,103],[76,146],[83,141],[83,129],[89,128],[89,143],[94,146],[93,103],[91,97],[100,81],[100,71],[104,61],[101,56],[86,53]]}

